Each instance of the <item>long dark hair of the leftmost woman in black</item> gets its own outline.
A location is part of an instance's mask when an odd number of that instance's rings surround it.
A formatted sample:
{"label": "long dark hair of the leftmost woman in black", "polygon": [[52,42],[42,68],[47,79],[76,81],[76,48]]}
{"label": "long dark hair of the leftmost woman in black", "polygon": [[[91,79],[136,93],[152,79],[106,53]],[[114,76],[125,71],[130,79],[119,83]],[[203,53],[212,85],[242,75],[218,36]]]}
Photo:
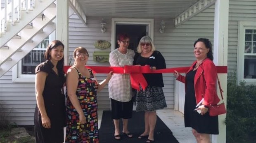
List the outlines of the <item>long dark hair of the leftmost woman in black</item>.
{"label": "long dark hair of the leftmost woman in black", "polygon": [[[45,59],[46,60],[50,60],[51,59],[51,55],[50,55],[50,51],[54,48],[56,48],[57,46],[63,46],[63,49],[64,49],[64,44],[62,44],[61,41],[59,40],[54,40],[52,41],[46,48],[46,51],[45,51]],[[58,73],[62,76],[64,76],[64,71],[63,71],[63,66],[64,66],[64,56],[61,60],[58,61],[57,63],[57,69],[58,69]]]}

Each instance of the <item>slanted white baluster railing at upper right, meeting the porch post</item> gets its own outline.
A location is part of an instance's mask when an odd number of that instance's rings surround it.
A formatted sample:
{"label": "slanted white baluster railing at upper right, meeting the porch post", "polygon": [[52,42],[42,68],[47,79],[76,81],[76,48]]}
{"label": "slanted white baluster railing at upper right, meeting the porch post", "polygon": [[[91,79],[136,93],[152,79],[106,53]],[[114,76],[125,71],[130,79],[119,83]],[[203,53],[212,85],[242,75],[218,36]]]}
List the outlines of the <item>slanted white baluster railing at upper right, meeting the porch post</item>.
{"label": "slanted white baluster railing at upper right, meeting the porch post", "polygon": [[216,0],[199,0],[190,8],[185,10],[182,14],[178,15],[175,18],[175,27],[177,27],[178,25],[181,25],[182,23],[189,20],[193,16],[199,14],[201,11],[207,9],[208,7],[213,5],[215,1]]}

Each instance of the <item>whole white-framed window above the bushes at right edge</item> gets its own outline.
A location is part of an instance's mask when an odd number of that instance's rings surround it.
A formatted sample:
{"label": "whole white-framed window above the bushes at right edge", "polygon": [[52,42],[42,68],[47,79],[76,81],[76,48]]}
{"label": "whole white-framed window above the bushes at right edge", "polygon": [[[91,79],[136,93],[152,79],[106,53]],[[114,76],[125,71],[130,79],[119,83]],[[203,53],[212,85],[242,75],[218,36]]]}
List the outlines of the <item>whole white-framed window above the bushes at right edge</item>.
{"label": "whole white-framed window above the bushes at right edge", "polygon": [[[256,25],[239,22],[238,35],[238,82],[256,83]],[[242,67],[242,68],[241,68]]]}

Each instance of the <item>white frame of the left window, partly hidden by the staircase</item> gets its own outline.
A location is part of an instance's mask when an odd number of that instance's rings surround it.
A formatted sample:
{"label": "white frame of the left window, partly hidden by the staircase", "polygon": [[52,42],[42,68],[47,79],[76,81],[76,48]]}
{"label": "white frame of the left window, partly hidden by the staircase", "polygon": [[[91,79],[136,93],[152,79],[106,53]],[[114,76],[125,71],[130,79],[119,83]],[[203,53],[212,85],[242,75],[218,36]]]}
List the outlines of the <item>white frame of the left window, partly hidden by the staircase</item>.
{"label": "white frame of the left window, partly hidden by the staircase", "polygon": [[[56,32],[52,32],[49,35],[49,44],[51,41],[56,39]],[[46,45],[48,46],[48,45]],[[33,50],[37,50],[38,48],[33,48]],[[21,65],[22,59],[17,62],[16,65],[12,67],[12,82],[15,83],[34,83],[35,82],[35,74],[21,74]]]}

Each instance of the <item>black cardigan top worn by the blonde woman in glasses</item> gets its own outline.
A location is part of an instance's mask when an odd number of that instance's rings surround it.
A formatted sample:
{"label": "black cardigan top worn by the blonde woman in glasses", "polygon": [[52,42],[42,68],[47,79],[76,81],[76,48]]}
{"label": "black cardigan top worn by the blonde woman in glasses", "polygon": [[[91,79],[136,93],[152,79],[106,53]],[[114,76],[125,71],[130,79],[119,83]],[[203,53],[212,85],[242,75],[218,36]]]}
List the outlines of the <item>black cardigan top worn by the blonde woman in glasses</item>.
{"label": "black cardigan top worn by the blonde woman in glasses", "polygon": [[[166,69],[163,55],[159,51],[154,51],[149,58],[142,57],[139,53],[134,56],[133,65],[149,65],[156,69]],[[163,74],[143,74],[147,84],[157,87],[164,87]]]}

